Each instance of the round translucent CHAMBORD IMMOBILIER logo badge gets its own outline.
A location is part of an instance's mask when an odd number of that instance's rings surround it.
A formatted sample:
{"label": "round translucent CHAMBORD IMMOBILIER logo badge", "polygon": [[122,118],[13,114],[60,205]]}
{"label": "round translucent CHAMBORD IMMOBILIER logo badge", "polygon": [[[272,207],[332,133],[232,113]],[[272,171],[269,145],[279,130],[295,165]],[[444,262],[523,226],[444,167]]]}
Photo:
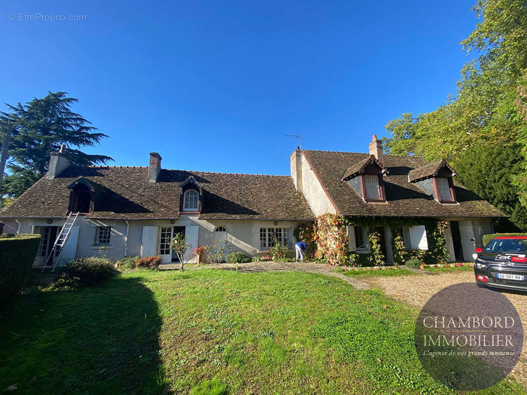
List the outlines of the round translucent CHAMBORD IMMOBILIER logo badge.
{"label": "round translucent CHAMBORD IMMOBILIER logo badge", "polygon": [[424,305],[415,325],[423,368],[455,390],[492,387],[520,358],[523,328],[503,294],[474,283],[454,284]]}

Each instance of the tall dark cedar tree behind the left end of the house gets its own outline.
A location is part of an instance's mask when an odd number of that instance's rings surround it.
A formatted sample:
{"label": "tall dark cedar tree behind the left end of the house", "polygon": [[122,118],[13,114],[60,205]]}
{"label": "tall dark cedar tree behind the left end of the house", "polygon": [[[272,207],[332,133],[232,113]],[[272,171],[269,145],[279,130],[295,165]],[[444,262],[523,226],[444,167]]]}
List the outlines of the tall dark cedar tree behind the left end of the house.
{"label": "tall dark cedar tree behind the left end of the house", "polygon": [[[110,156],[89,155],[79,149],[100,143],[103,133],[80,114],[71,111],[78,100],[67,97],[67,92],[48,92],[44,98],[34,98],[22,105],[6,104],[9,112],[2,112],[0,140],[8,120],[15,124],[9,143],[9,175],[4,177],[2,193],[11,197],[21,195],[36,180],[42,177],[50,163],[50,153],[66,145],[66,155],[72,164],[94,165],[113,161]],[[1,144],[0,141],[0,144]]]}

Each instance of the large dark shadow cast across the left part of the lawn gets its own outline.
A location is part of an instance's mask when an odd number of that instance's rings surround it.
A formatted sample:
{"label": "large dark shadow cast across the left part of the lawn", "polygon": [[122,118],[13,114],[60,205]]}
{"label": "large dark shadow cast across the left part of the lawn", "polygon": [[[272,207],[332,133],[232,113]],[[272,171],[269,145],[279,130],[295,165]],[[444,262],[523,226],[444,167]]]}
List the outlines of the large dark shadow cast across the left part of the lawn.
{"label": "large dark shadow cast across the left part of the lawn", "polygon": [[32,288],[0,318],[0,390],[161,393],[161,319],[140,278],[78,291]]}

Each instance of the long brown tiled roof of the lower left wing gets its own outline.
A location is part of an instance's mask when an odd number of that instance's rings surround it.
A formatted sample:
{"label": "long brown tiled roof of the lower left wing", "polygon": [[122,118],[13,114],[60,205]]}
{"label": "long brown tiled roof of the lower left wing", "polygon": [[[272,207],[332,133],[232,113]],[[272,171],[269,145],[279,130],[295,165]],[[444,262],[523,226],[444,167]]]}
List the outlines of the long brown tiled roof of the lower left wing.
{"label": "long brown tiled roof of the lower left wing", "polygon": [[1,217],[64,217],[71,190],[84,176],[96,194],[89,218],[175,219],[180,186],[190,176],[203,189],[200,218],[313,219],[304,196],[290,176],[161,170],[157,183],[147,182],[148,167],[70,166],[56,179],[38,180],[0,212]]}

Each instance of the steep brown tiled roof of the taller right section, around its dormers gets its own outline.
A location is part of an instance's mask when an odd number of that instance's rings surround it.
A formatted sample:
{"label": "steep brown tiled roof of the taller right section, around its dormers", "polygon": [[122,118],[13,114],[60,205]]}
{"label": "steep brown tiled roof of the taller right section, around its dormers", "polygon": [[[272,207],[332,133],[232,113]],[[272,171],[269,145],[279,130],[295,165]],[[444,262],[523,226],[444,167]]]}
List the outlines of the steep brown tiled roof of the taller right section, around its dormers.
{"label": "steep brown tiled roof of the taller right section, around its dormers", "polygon": [[337,213],[350,216],[422,216],[422,217],[500,217],[504,214],[460,183],[454,181],[459,204],[440,204],[417,185],[408,182],[408,173],[428,163],[420,158],[384,155],[383,165],[387,203],[365,203],[341,177],[348,167],[367,159],[356,152],[302,151]]}

